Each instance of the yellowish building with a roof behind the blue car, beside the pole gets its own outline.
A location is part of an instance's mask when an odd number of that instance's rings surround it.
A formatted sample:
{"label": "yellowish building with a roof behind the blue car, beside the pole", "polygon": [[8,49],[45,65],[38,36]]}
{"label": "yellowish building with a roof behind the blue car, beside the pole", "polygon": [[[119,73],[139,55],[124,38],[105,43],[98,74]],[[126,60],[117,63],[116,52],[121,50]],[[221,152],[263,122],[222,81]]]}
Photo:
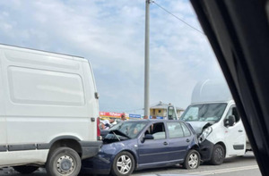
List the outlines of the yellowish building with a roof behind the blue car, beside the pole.
{"label": "yellowish building with a roof behind the blue car, beside the pole", "polygon": [[[150,111],[151,118],[152,116],[156,116],[157,119],[164,119],[164,117],[167,116],[167,109],[169,105],[171,104],[164,104],[161,101],[159,104],[153,105]],[[180,115],[184,112],[184,109],[180,107],[175,107],[175,108],[177,109],[178,117],[180,117]]]}

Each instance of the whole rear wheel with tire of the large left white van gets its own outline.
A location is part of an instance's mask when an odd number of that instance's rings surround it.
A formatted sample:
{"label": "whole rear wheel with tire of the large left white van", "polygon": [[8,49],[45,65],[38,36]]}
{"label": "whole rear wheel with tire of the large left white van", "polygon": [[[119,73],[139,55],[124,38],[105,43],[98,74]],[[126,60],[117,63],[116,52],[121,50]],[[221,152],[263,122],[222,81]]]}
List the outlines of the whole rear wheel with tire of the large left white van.
{"label": "whole rear wheel with tire of the large left white van", "polygon": [[51,176],[76,176],[82,167],[81,157],[69,147],[59,147],[49,153],[46,170]]}

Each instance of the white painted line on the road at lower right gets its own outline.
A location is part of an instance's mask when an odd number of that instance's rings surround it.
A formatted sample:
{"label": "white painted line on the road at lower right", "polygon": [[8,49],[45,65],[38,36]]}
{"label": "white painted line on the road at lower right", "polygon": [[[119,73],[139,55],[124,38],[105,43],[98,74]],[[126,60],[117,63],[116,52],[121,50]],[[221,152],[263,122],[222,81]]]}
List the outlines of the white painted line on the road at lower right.
{"label": "white painted line on the road at lower right", "polygon": [[213,171],[206,171],[206,172],[191,172],[188,173],[190,175],[212,175],[217,173],[224,173],[224,172],[239,172],[239,171],[246,171],[246,170],[253,170],[258,169],[258,165],[249,165],[244,167],[234,167],[234,168],[228,168],[228,169],[219,169],[219,170],[213,170]]}

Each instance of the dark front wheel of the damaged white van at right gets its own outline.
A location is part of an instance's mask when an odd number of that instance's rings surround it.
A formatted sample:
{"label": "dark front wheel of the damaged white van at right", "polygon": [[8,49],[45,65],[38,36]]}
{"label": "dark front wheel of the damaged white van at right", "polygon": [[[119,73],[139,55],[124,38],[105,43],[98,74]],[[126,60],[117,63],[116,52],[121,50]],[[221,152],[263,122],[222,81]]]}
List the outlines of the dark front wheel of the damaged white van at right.
{"label": "dark front wheel of the damaged white van at right", "polygon": [[213,165],[220,165],[223,163],[225,158],[224,149],[221,145],[217,144],[213,147],[213,153],[210,160],[210,163]]}

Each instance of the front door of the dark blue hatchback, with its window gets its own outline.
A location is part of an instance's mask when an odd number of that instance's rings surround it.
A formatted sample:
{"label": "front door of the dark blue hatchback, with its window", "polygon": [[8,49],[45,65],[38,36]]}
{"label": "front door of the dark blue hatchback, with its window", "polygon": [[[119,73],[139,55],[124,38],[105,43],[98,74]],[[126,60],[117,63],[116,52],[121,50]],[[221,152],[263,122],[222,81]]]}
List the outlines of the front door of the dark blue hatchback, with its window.
{"label": "front door of the dark blue hatchback, with its window", "polygon": [[166,162],[168,160],[168,138],[164,122],[152,123],[143,131],[143,134],[145,133],[152,134],[154,139],[143,140],[143,135],[138,141],[138,164],[147,166]]}

